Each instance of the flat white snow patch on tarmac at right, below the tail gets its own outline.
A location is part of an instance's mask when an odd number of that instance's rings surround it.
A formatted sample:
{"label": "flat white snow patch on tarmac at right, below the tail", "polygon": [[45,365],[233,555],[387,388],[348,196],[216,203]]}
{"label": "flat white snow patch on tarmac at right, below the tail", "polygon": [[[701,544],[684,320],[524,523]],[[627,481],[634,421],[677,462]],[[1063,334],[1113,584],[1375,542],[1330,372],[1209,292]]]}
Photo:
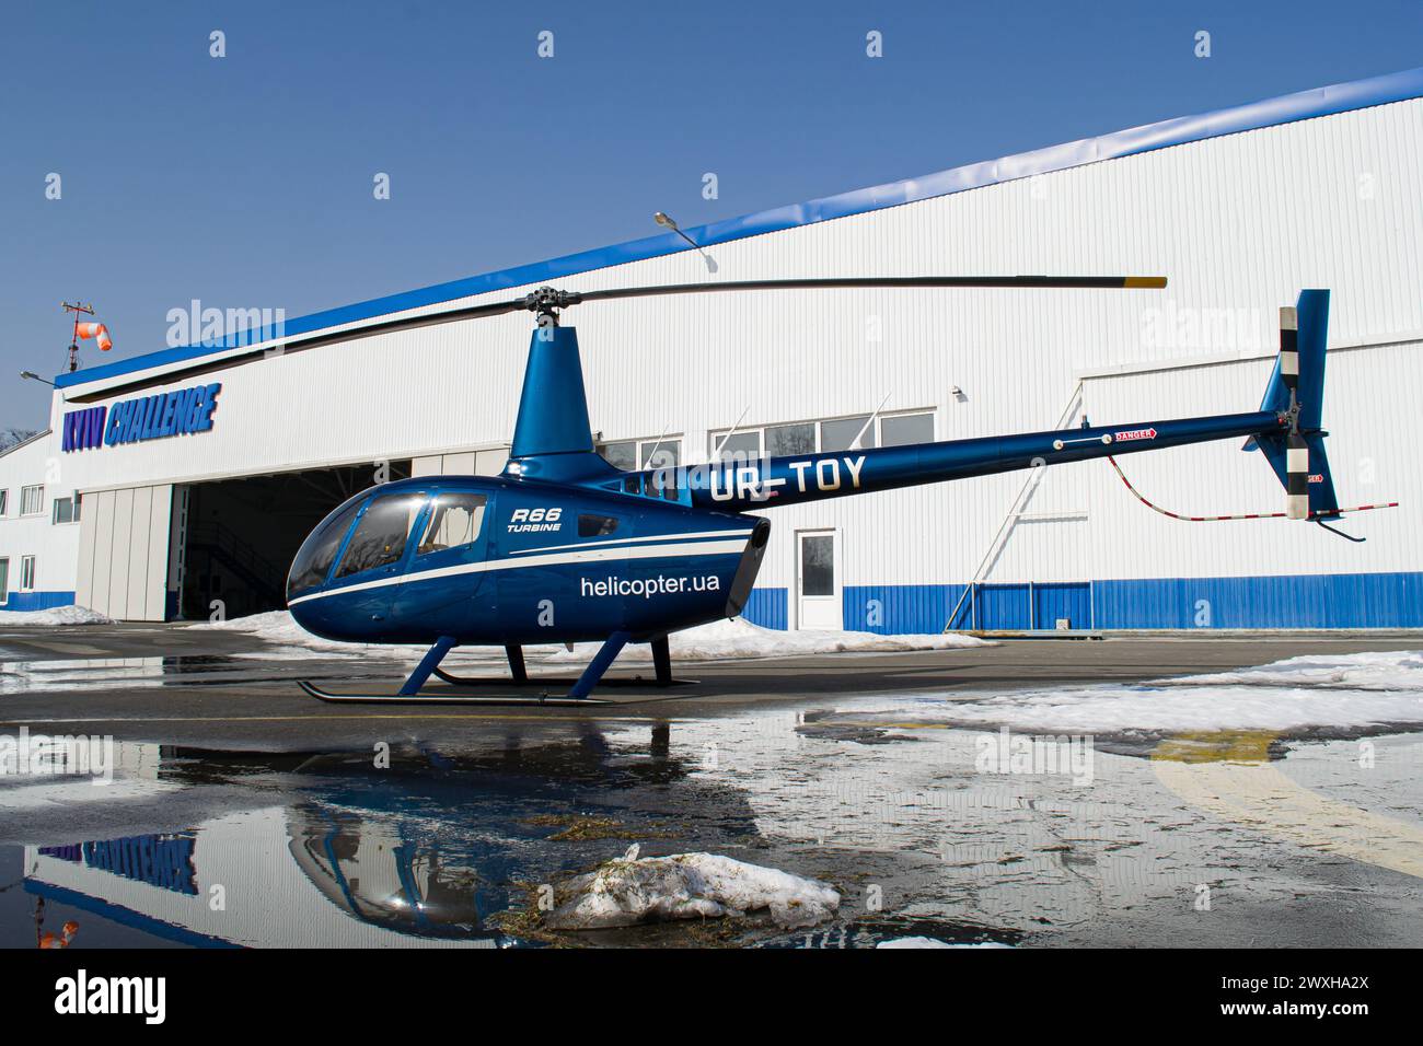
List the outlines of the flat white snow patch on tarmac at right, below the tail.
{"label": "flat white snow patch on tarmac at right, below the tail", "polygon": [[921,717],[1053,734],[1370,729],[1423,723],[1423,655],[1309,656],[1239,672],[1141,686],[945,694],[912,703]]}

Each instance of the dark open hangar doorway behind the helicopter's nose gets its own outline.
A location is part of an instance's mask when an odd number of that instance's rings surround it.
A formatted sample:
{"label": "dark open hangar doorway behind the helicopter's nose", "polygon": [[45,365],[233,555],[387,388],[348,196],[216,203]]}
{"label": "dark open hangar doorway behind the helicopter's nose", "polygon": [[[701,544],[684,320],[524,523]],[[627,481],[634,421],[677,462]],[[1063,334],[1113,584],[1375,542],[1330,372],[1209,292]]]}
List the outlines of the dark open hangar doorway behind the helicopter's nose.
{"label": "dark open hangar doorway behind the helicopter's nose", "polygon": [[[410,477],[391,461],[387,480]],[[222,601],[226,618],[286,606],[286,572],[306,535],[333,508],[373,487],[370,464],[248,475],[191,484],[174,495],[176,616],[206,619]]]}

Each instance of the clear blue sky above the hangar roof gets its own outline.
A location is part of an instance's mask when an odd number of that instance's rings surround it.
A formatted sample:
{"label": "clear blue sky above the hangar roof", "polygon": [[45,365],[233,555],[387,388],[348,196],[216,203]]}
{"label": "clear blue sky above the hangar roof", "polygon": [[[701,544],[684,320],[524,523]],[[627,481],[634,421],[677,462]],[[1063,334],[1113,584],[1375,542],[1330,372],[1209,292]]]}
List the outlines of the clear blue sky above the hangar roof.
{"label": "clear blue sky above the hangar roof", "polygon": [[61,299],[134,356],[195,297],[296,317],[650,235],[657,209],[692,226],[1410,68],[1423,40],[1417,0],[9,0],[0,20],[0,428],[44,423],[48,389],[17,371],[61,369]]}

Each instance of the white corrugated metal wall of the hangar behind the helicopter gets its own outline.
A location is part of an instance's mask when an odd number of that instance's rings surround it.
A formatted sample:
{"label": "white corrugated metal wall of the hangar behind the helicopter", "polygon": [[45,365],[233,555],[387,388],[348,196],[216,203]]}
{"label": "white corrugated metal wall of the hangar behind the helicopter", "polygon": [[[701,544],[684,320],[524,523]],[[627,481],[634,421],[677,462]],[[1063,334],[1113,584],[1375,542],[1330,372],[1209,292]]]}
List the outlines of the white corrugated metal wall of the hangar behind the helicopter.
{"label": "white corrugated metal wall of the hangar behind the helicopter", "polygon": [[[1325,420],[1340,498],[1405,504],[1349,521],[1368,544],[1285,521],[1165,519],[1133,501],[1106,463],[1086,463],[1043,478],[985,579],[1407,574],[1419,566],[1410,535],[1423,505],[1403,438],[1417,414],[1410,393],[1423,387],[1420,168],[1423,101],[1406,101],[720,245],[709,252],[716,279],[1163,273],[1171,283],[582,306],[568,320],[582,343],[593,427],[609,440],[683,431],[697,458],[707,431],[743,410],[748,426],[834,417],[867,413],[887,394],[887,410],[933,408],[945,440],[1049,428],[1079,381],[1094,423],[1254,410],[1278,307],[1322,286],[1333,290]],[[687,252],[559,285],[703,279],[707,263]],[[205,377],[223,381],[212,433],[67,455],[68,474],[95,488],[497,445],[512,431],[529,326],[521,315],[430,327]],[[1192,366],[1151,369],[1173,363]],[[1284,504],[1259,455],[1235,444],[1123,463],[1168,508]],[[877,598],[861,589],[921,586],[881,593],[899,608],[885,620],[936,628],[958,601],[959,589],[943,586],[973,578],[1022,485],[1022,475],[989,477],[771,512],[757,613],[785,619],[794,601],[774,589],[794,586],[790,535],[824,527],[840,531],[847,626],[867,620],[864,602]],[[1081,591],[1054,598],[1080,608]],[[1026,591],[1010,592],[985,601],[1035,606]],[[1033,616],[1059,616],[1054,598],[1042,598]],[[1016,619],[1019,609],[1002,612]]]}

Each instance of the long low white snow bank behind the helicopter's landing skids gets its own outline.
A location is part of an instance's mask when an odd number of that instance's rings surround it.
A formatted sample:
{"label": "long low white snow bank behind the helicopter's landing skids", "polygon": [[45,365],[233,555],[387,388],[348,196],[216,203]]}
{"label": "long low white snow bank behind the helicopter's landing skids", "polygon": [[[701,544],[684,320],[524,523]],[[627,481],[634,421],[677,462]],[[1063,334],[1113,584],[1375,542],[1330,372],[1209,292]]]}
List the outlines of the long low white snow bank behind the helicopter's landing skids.
{"label": "long low white snow bank behind the helicopter's landing skids", "polygon": [[[192,625],[199,629],[229,629],[248,632],[258,639],[276,646],[300,646],[322,653],[351,655],[364,657],[420,657],[423,648],[416,646],[373,646],[366,643],[336,643],[319,639],[297,625],[289,611],[255,613],[250,618],[233,618],[213,623]],[[881,636],[872,632],[783,632],[764,629],[740,618],[700,625],[670,636],[675,660],[733,660],[754,657],[790,657],[808,653],[835,653],[841,650],[942,650],[959,646],[989,646],[982,639],[961,635],[924,636]],[[588,662],[598,652],[598,643],[578,643],[572,650],[556,645],[527,646],[524,653],[536,662]],[[499,648],[457,648],[451,662],[465,657],[480,660],[502,660]],[[650,662],[652,648],[636,643],[623,648],[619,663]]]}

